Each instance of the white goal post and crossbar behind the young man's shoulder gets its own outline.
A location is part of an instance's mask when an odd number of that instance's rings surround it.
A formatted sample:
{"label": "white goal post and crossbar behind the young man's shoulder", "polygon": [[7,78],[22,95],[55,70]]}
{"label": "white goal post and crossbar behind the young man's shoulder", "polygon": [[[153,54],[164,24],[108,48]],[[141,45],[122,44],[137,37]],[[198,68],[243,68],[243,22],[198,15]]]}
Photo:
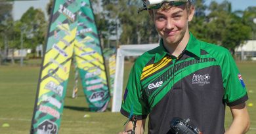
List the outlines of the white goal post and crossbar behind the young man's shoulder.
{"label": "white goal post and crossbar behind the young man's shoulder", "polygon": [[123,71],[125,56],[140,56],[148,50],[152,50],[159,46],[156,44],[129,44],[121,45],[117,49],[116,54],[116,74],[114,80],[112,112],[119,112],[121,109],[121,101],[123,95]]}

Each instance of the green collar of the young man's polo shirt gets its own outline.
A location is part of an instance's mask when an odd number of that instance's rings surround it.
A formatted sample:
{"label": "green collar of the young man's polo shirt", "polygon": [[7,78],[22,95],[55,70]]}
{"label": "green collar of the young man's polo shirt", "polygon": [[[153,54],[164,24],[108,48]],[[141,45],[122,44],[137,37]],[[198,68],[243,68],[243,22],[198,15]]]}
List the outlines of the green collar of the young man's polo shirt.
{"label": "green collar of the young man's polo shirt", "polygon": [[[190,39],[189,39],[188,44],[186,45],[186,48],[183,52],[185,52],[185,51],[191,52],[198,58],[200,58],[200,56],[201,56],[200,42],[198,41],[198,39],[196,39],[196,37],[194,37],[194,35],[192,35],[192,33],[190,33]],[[161,39],[160,46],[158,46],[158,50],[155,55],[154,63],[157,63],[158,61],[160,61],[163,57],[166,56],[166,54],[168,54],[168,52],[165,49],[165,47],[163,46],[163,39]]]}

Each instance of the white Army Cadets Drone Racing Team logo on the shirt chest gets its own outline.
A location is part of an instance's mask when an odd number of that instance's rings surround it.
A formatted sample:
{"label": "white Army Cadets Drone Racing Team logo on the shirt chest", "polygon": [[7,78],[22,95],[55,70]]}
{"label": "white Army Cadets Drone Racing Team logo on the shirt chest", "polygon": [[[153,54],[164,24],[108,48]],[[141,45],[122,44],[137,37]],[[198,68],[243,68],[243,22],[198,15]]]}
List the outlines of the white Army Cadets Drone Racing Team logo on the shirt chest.
{"label": "white Army Cadets Drone Racing Team logo on the shirt chest", "polygon": [[199,86],[203,86],[205,84],[210,84],[211,76],[209,74],[205,75],[193,75],[192,84],[198,84]]}

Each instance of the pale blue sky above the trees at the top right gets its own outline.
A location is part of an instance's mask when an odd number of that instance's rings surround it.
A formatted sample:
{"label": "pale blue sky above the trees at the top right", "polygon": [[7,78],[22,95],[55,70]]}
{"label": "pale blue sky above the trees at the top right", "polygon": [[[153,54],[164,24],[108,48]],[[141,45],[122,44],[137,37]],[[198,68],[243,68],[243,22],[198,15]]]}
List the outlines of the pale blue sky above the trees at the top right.
{"label": "pale blue sky above the trees at the top right", "polygon": [[[211,1],[217,1],[217,3],[222,3],[224,0],[205,0],[205,4],[209,5]],[[228,0],[231,2],[232,11],[234,10],[245,10],[245,8],[253,6],[256,7],[256,0]]]}

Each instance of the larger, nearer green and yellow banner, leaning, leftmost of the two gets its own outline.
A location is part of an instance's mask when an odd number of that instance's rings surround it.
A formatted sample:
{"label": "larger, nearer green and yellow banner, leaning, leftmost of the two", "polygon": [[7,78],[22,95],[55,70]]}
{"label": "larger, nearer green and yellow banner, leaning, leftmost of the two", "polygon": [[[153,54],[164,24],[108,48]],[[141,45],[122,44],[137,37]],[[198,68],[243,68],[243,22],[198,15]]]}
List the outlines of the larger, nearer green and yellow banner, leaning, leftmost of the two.
{"label": "larger, nearer green and yellow banner, leaning, leftmost of the two", "polygon": [[54,1],[30,133],[58,133],[83,0]]}

